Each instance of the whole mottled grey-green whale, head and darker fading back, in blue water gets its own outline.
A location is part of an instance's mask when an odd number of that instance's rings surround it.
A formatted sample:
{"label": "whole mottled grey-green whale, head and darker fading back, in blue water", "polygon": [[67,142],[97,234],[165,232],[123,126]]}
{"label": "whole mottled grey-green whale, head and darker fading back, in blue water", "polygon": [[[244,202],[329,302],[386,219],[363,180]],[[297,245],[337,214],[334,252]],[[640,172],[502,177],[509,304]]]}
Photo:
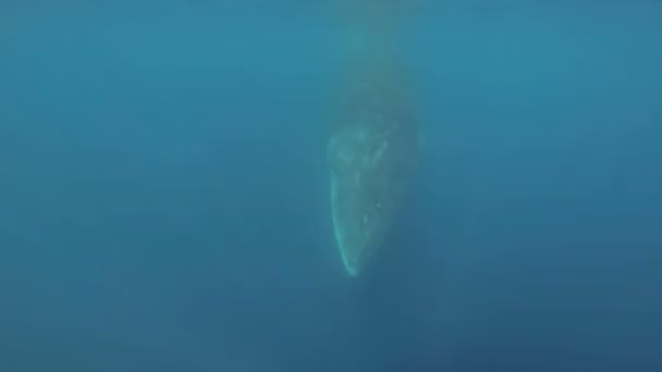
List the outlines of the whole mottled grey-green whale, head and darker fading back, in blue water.
{"label": "whole mottled grey-green whale, head and darker fading back, in blue water", "polygon": [[328,144],[338,248],[357,276],[384,245],[418,162],[418,125],[390,76],[363,79]]}

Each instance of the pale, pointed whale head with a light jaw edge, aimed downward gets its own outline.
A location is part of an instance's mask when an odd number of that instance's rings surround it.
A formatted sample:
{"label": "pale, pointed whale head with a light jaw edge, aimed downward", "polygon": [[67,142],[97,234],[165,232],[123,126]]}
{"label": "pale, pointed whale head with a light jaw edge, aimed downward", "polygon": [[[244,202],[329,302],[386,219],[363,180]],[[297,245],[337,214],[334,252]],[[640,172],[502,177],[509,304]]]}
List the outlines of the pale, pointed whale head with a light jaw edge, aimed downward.
{"label": "pale, pointed whale head with a light jaw edge, aimed downward", "polygon": [[397,128],[358,121],[329,141],[333,230],[350,276],[384,245],[403,203],[415,153]]}

